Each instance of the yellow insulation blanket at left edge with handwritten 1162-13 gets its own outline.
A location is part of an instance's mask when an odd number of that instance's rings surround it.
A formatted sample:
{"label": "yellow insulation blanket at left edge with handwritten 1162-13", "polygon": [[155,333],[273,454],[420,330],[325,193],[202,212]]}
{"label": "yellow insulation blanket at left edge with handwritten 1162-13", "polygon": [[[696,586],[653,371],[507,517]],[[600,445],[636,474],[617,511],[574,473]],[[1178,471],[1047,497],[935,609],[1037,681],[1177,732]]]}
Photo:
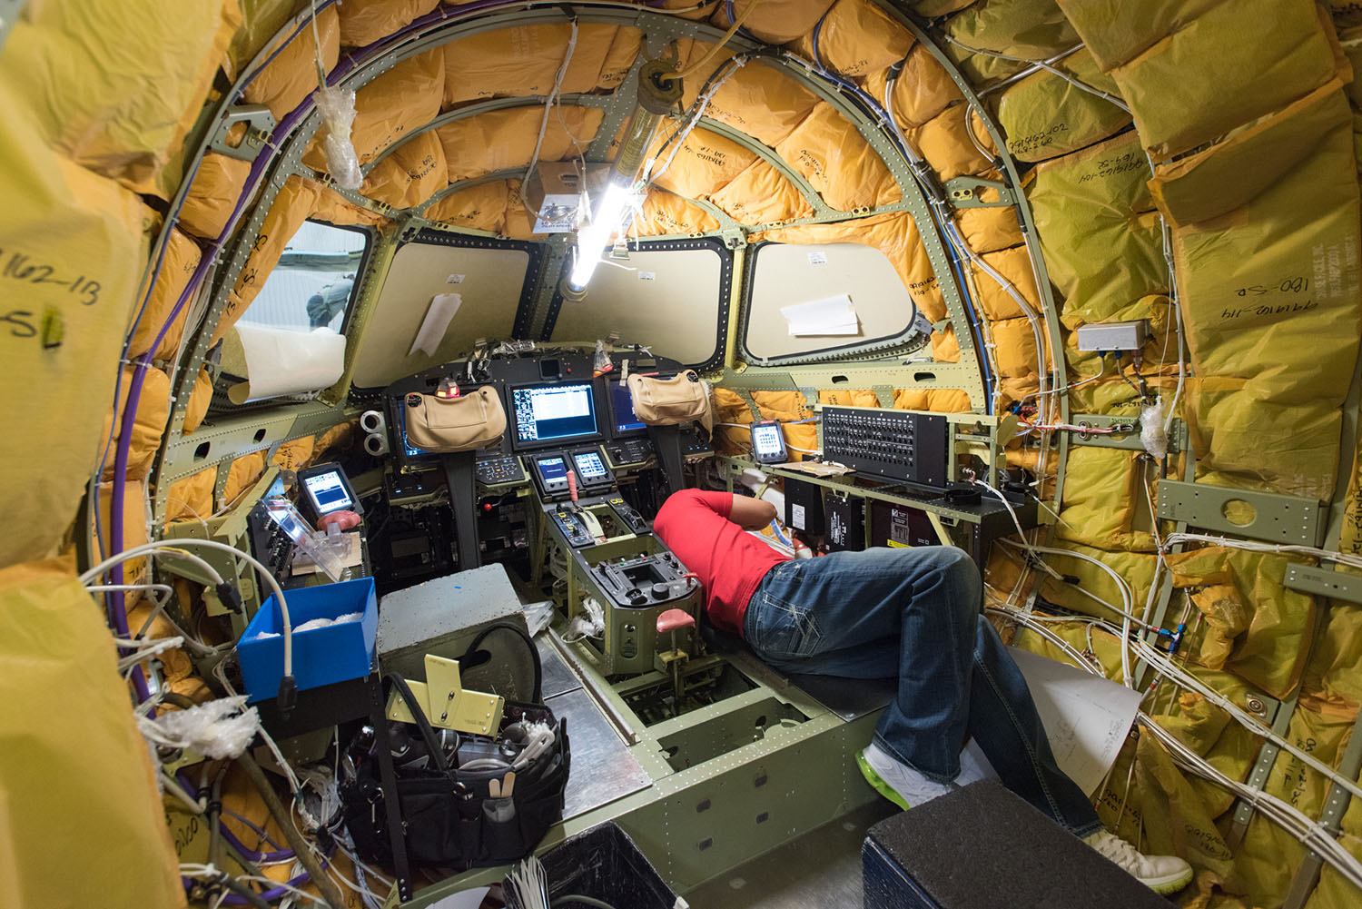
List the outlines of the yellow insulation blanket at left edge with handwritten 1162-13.
{"label": "yellow insulation blanket at left edge with handwritten 1162-13", "polygon": [[104,442],[148,219],[138,196],[34,142],[38,124],[11,84],[0,80],[0,338],[4,399],[22,431],[0,442],[0,499],[23,533],[4,534],[0,564],[50,553],[75,517]]}

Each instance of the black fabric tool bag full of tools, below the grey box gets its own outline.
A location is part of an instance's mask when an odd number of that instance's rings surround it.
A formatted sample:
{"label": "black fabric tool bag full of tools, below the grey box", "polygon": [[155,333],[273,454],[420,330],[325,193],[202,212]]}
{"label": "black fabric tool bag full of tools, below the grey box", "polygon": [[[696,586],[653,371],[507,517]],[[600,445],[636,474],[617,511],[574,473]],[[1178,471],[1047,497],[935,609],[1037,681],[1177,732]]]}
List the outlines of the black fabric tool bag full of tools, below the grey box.
{"label": "black fabric tool bag full of tools, below the grey box", "polygon": [[[498,626],[493,626],[496,627]],[[524,636],[513,626],[507,627]],[[470,653],[485,635],[486,632],[478,636],[469,649]],[[528,638],[524,641],[534,654],[535,703],[507,700],[501,732],[505,733],[522,721],[545,722],[554,732],[554,740],[526,766],[515,769],[509,797],[492,795],[493,785],[497,789],[504,786],[507,767],[490,767],[489,765],[496,760],[482,759],[475,762],[477,769],[459,770],[445,754],[451,748],[449,740],[454,733],[441,730],[437,736],[406,680],[396,673],[384,677],[417,718],[414,724],[419,732],[417,750],[424,747],[426,756],[419,762],[421,766],[398,767],[398,803],[406,833],[407,859],[414,865],[473,868],[518,861],[528,856],[549,826],[563,816],[563,795],[571,765],[567,721],[557,720],[553,711],[541,703],[539,654]],[[390,724],[390,741],[376,741],[370,748],[361,748],[368,754],[360,754],[358,758],[354,758],[355,747],[351,745],[350,756],[355,775],[340,784],[345,820],[355,848],[362,857],[383,864],[391,863],[392,849],[380,786],[377,748],[391,750],[392,739],[396,739],[394,733],[403,726],[411,728],[410,724]],[[494,743],[481,740],[475,744],[489,748]],[[460,747],[455,745],[454,752],[458,755]]]}

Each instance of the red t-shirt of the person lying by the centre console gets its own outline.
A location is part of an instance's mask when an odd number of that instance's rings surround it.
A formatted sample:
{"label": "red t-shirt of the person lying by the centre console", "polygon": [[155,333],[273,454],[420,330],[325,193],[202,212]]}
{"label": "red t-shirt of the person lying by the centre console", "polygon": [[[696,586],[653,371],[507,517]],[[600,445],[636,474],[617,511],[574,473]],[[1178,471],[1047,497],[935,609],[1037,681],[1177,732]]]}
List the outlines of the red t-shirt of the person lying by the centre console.
{"label": "red t-shirt of the person lying by the centre console", "polygon": [[684,489],[662,503],[652,530],[700,578],[714,627],[741,635],[748,600],[787,559],[729,521],[731,512],[731,493]]}

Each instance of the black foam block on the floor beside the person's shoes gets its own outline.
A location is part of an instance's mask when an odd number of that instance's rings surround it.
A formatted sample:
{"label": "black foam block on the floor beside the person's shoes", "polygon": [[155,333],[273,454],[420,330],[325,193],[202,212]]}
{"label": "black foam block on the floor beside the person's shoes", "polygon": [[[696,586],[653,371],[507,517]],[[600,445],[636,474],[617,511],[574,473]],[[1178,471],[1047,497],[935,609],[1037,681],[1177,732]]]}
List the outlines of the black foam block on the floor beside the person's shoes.
{"label": "black foam block on the floor beside the person's shoes", "polygon": [[870,827],[866,909],[1171,905],[996,782],[977,782]]}

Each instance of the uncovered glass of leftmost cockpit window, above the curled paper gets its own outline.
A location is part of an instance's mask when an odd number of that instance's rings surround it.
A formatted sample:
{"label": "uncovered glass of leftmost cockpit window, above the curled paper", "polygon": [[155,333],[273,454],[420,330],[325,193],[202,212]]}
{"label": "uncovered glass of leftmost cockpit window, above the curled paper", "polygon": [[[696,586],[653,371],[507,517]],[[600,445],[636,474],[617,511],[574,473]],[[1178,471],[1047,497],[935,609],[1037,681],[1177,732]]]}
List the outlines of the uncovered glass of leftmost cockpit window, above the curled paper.
{"label": "uncovered glass of leftmost cockpit window, above the curled paper", "polygon": [[304,221],[241,322],[339,333],[368,245],[362,230]]}

